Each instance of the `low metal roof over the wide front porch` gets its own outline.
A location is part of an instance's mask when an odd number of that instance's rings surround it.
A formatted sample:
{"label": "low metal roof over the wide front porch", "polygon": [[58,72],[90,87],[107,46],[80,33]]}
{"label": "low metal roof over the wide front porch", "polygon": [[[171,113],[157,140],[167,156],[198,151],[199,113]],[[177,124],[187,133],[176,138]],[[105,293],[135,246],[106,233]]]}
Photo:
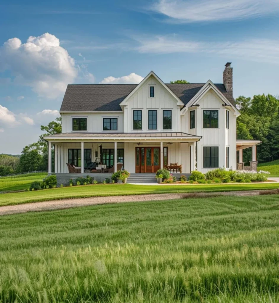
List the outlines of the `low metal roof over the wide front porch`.
{"label": "low metal roof over the wide front porch", "polygon": [[187,139],[191,141],[199,141],[202,137],[197,135],[191,135],[183,132],[148,132],[148,133],[63,133],[56,135],[45,136],[46,141],[52,140],[77,140],[77,139],[87,139],[87,140],[108,140],[114,141],[116,139],[121,139],[124,141],[130,140],[177,140],[177,139]]}

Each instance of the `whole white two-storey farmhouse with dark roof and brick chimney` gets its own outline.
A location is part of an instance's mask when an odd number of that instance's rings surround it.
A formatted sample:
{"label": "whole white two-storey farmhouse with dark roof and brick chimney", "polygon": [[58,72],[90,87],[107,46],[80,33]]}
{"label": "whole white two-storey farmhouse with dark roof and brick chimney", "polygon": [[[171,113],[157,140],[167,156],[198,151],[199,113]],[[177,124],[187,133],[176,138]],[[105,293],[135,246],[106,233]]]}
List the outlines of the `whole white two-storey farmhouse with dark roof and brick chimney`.
{"label": "whole white two-storey farmhouse with dark roof and brick chimney", "polygon": [[131,180],[155,181],[154,173],[171,163],[184,175],[242,169],[242,149],[249,147],[255,169],[260,142],[236,138],[240,113],[230,65],[225,65],[223,84],[166,84],[151,71],[138,85],[68,85],[60,108],[62,134],[45,137],[49,174],[65,183],[73,174],[103,180],[125,168]]}

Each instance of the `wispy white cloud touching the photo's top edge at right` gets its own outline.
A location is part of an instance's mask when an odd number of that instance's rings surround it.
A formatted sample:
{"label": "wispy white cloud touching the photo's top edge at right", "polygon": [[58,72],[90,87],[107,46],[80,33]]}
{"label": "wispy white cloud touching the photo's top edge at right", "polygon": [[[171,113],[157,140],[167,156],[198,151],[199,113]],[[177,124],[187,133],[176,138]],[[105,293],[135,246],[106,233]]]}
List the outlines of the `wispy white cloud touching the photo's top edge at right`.
{"label": "wispy white cloud touching the photo's top edge at right", "polygon": [[159,0],[149,10],[170,22],[240,20],[279,12],[278,0]]}

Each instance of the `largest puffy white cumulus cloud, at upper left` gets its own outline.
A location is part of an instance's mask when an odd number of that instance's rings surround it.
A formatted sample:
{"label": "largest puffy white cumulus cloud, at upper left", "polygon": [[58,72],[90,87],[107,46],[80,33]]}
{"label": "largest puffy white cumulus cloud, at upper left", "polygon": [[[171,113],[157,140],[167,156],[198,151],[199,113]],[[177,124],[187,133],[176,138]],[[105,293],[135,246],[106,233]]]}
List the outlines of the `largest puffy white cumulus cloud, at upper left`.
{"label": "largest puffy white cumulus cloud, at upper left", "polygon": [[78,69],[59,39],[45,33],[22,44],[9,39],[0,48],[0,71],[10,70],[15,83],[28,85],[39,96],[55,98],[72,83]]}

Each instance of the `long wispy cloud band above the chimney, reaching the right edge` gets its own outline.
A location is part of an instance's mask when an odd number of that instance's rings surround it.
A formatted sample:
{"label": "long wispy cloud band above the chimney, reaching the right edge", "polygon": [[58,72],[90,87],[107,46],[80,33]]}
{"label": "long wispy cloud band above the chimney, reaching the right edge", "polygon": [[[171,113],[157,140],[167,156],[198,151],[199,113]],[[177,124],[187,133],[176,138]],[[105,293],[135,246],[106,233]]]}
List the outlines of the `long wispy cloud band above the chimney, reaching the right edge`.
{"label": "long wispy cloud band above the chimney, reaching the right edge", "polygon": [[[178,35],[134,36],[140,53],[203,53],[279,64],[279,40],[250,39],[240,42],[197,42]],[[231,59],[229,59],[231,60]]]}

